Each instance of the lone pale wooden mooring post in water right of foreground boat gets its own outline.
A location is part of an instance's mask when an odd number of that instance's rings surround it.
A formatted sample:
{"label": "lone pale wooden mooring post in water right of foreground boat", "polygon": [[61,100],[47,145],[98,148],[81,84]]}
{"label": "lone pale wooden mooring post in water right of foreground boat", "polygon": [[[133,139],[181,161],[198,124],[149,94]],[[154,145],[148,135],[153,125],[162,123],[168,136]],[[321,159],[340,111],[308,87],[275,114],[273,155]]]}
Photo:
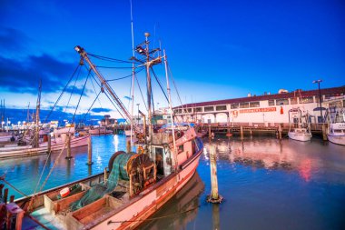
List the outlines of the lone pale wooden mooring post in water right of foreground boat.
{"label": "lone pale wooden mooring post in water right of foreground boat", "polygon": [[208,195],[207,201],[211,203],[222,203],[222,195],[218,194],[218,179],[217,179],[217,161],[216,161],[216,146],[210,145],[210,169],[211,169],[211,195]]}

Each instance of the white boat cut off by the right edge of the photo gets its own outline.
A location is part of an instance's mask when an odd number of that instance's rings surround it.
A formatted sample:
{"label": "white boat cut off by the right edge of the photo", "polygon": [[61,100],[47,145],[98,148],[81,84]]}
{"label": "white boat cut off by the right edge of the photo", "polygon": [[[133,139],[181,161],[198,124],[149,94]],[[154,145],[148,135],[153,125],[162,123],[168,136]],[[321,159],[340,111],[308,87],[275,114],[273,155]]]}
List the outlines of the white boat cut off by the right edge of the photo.
{"label": "white boat cut off by the right edge of the photo", "polygon": [[345,110],[330,108],[329,130],[327,137],[331,143],[345,145]]}

